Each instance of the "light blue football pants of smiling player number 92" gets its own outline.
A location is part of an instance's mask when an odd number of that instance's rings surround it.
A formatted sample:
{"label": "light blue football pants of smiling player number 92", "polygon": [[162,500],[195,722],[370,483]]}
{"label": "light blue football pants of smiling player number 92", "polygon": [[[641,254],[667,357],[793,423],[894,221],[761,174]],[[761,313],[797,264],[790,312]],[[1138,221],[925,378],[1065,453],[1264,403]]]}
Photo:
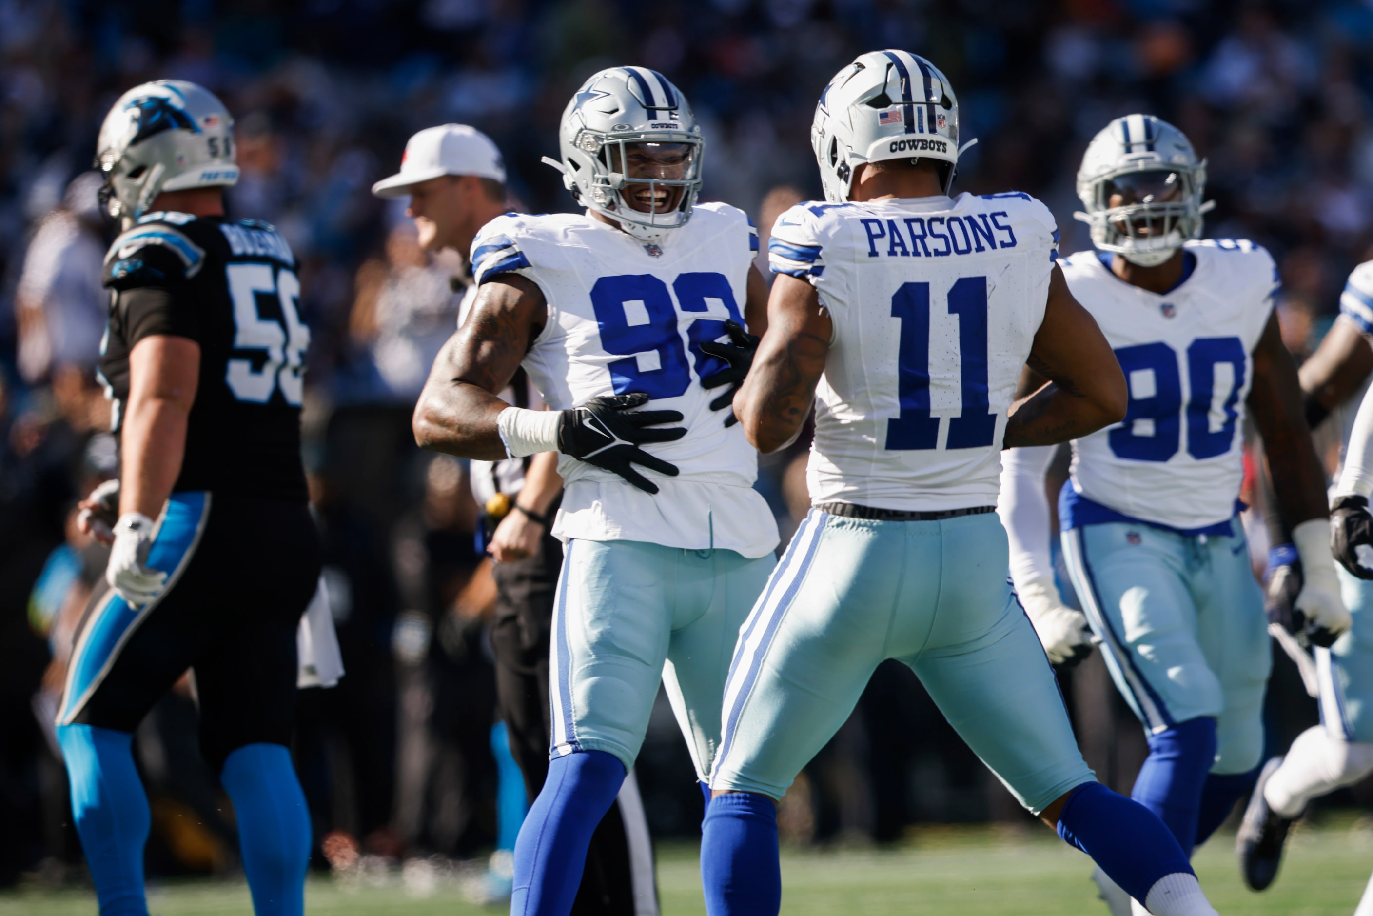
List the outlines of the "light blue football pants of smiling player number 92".
{"label": "light blue football pants of smiling player number 92", "polygon": [[605,751],[632,768],[662,681],[704,781],[739,628],[774,564],[772,553],[568,541],[548,676],[552,757]]}

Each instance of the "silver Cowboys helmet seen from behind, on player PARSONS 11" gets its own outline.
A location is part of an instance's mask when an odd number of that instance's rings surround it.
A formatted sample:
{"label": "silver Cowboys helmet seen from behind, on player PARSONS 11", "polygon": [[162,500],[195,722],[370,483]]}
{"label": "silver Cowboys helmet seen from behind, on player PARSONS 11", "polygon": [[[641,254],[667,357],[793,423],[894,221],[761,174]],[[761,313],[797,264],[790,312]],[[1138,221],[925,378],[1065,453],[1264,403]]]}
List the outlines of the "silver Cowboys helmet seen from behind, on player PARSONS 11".
{"label": "silver Cowboys helmet seen from behind, on player PARSONS 11", "polygon": [[869,51],[835,74],[816,106],[810,146],[825,199],[849,201],[862,162],[936,159],[949,194],[958,168],[958,99],[935,65],[909,51]]}

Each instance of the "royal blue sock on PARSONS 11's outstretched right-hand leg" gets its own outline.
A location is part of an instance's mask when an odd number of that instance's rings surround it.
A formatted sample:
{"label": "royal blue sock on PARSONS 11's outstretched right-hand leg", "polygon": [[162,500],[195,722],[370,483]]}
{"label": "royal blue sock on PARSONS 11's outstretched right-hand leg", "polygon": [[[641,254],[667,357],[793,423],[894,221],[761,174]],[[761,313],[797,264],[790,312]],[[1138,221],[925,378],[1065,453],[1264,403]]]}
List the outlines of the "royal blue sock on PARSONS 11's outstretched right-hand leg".
{"label": "royal blue sock on PARSONS 11's outstretched right-hand leg", "polygon": [[1101,783],[1074,790],[1059,816],[1059,836],[1094,858],[1135,900],[1145,900],[1164,875],[1196,873],[1163,821]]}

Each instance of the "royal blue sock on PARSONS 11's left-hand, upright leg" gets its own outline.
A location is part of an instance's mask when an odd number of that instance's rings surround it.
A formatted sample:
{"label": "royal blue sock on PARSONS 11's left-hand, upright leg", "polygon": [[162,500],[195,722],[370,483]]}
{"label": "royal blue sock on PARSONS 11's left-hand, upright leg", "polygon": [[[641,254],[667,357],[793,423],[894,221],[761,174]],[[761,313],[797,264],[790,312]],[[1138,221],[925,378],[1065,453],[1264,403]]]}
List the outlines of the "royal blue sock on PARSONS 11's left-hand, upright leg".
{"label": "royal blue sock on PARSONS 11's left-hand, upright leg", "polygon": [[711,799],[700,838],[700,882],[708,916],[774,916],[781,911],[773,799],[754,792]]}

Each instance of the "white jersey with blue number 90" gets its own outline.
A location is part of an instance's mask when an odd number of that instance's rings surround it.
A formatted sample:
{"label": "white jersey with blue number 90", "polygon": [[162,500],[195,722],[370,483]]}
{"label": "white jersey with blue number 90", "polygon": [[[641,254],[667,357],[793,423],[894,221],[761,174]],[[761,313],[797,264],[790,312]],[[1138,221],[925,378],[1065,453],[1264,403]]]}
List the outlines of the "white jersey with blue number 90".
{"label": "white jersey with blue number 90", "polygon": [[1119,279],[1096,251],[1059,264],[1130,386],[1124,420],[1072,442],[1075,494],[1131,519],[1195,530],[1236,514],[1244,401],[1277,268],[1243,239],[1184,247],[1196,266],[1163,295]]}

